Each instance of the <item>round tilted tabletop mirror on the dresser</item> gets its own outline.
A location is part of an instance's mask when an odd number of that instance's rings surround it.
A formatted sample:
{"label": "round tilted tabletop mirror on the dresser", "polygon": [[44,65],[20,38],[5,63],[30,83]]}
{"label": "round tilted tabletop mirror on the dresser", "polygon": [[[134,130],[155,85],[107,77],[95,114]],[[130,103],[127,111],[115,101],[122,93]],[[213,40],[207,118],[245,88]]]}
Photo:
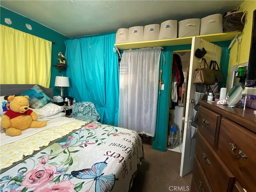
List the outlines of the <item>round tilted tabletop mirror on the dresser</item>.
{"label": "round tilted tabletop mirror on the dresser", "polygon": [[226,96],[227,104],[229,106],[236,105],[242,98],[243,90],[244,90],[243,87],[240,85],[236,85],[236,86],[232,87]]}

